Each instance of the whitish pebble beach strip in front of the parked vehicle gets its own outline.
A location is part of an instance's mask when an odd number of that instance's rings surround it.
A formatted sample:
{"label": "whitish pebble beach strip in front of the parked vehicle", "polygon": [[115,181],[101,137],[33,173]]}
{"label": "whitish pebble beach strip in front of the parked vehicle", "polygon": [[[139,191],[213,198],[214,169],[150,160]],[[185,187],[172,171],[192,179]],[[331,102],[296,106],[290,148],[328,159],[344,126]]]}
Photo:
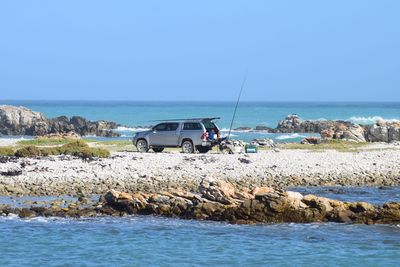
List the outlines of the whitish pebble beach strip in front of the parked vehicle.
{"label": "whitish pebble beach strip in front of the parked vehicle", "polygon": [[[20,171],[18,175],[10,172]],[[357,152],[282,149],[258,154],[182,154],[114,152],[85,161],[71,156],[2,158],[1,195],[101,194],[197,190],[203,178],[239,187],[398,186],[400,147],[369,145]]]}

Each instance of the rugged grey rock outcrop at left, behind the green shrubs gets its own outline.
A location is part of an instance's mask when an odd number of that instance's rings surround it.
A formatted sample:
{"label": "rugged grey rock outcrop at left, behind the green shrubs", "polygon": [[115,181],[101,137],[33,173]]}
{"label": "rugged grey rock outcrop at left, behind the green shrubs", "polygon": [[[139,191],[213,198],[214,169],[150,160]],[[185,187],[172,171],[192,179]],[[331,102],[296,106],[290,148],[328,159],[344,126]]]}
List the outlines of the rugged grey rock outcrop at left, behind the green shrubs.
{"label": "rugged grey rock outcrop at left, behind the green shrubs", "polygon": [[42,113],[25,107],[0,106],[0,134],[31,135],[63,134],[75,132],[81,136],[118,136],[112,129],[118,125],[107,121],[89,121],[74,116],[61,116],[53,119],[46,118]]}

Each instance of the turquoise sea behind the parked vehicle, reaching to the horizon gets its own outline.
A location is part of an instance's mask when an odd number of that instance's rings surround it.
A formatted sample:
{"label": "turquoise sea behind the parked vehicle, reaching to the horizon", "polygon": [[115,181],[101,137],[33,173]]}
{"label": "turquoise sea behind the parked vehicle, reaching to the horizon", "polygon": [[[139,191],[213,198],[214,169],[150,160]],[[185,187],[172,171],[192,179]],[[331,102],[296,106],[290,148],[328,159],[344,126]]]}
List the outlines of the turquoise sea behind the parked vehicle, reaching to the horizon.
{"label": "turquoise sea behind the parked vehicle, reaching to the horizon", "polygon": [[[0,104],[21,105],[43,112],[48,117],[79,115],[90,120],[109,120],[124,125],[122,138],[154,125],[155,120],[221,117],[218,125],[227,134],[235,103],[233,102],[135,102],[135,101],[15,101]],[[393,103],[318,103],[318,102],[242,102],[233,128],[265,125],[276,127],[288,114],[303,119],[341,119],[369,124],[378,119],[400,120],[400,102]],[[245,141],[271,138],[276,142],[297,142],[315,134],[270,134],[239,131],[232,138]]]}

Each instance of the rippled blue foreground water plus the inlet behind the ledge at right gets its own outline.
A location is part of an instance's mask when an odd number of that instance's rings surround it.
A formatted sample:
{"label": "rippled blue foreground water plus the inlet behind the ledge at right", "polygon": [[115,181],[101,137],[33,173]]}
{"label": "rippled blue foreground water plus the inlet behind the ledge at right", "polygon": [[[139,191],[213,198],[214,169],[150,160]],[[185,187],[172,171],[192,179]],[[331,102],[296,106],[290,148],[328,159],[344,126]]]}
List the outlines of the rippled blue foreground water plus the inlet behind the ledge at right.
{"label": "rippled blue foreground water plus the inlet behind the ledge at right", "polygon": [[[298,188],[399,201],[400,188]],[[398,266],[399,225],[230,225],[151,216],[0,217],[0,266]]]}

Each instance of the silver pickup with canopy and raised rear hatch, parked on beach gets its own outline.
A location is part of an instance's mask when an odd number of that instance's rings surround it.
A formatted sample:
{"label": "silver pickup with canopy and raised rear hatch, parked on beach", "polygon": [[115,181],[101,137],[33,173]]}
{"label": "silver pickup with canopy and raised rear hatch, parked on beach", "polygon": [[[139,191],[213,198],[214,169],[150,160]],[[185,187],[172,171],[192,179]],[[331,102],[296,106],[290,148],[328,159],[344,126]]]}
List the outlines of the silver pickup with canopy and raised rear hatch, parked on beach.
{"label": "silver pickup with canopy and raised rear hatch, parked on beach", "polygon": [[221,138],[221,131],[213,122],[219,118],[168,120],[149,131],[138,132],[133,145],[139,152],[162,152],[165,147],[181,147],[184,153],[207,153]]}

